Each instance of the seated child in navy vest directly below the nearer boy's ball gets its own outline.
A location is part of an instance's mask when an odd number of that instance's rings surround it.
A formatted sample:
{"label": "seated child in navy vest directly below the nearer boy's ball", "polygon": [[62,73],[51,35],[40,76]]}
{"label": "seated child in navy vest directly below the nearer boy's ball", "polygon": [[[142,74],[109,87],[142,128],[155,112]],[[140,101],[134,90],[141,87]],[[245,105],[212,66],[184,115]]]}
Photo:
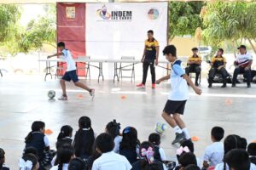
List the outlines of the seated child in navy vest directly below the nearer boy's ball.
{"label": "seated child in navy vest directly below the nearer boy's ball", "polygon": [[154,159],[157,161],[166,161],[165,150],[160,147],[160,134],[151,133],[148,137],[148,141],[154,144]]}

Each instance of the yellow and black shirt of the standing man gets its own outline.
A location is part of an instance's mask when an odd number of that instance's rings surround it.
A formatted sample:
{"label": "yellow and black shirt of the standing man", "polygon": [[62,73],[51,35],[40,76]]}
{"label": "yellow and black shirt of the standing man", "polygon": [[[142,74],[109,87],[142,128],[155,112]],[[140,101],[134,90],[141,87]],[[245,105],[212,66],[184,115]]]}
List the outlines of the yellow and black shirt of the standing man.
{"label": "yellow and black shirt of the standing man", "polygon": [[146,40],[145,41],[145,60],[154,60],[156,57],[156,50],[155,48],[159,47],[158,41],[154,38],[152,41]]}

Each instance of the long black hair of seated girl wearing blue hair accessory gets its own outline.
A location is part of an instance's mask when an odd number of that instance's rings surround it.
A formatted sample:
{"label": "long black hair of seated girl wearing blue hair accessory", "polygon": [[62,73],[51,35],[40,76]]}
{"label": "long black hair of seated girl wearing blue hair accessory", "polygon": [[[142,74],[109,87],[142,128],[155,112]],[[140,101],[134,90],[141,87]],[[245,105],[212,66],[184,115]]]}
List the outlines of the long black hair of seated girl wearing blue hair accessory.
{"label": "long black hair of seated girl wearing blue hair accessory", "polygon": [[136,150],[137,144],[137,130],[135,127],[125,127],[123,130],[123,139],[120,142],[120,150]]}

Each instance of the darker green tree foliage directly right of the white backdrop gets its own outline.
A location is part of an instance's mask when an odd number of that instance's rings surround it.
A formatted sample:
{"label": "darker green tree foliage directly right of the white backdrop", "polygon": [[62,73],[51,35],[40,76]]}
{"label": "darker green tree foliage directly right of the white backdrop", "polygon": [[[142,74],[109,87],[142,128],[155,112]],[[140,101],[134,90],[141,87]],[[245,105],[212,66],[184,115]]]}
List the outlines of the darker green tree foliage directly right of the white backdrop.
{"label": "darker green tree foliage directly right of the white backdrop", "polygon": [[175,36],[195,35],[197,27],[202,27],[200,17],[203,2],[170,2],[169,3],[169,38]]}

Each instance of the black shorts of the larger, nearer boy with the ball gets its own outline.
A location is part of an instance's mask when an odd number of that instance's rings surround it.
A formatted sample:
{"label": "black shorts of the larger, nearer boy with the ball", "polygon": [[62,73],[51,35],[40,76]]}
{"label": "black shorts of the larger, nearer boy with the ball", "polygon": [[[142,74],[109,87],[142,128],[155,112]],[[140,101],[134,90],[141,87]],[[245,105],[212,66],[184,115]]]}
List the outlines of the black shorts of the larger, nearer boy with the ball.
{"label": "black shorts of the larger, nearer boy with the ball", "polygon": [[168,99],[166,102],[166,106],[164,108],[164,112],[166,112],[169,115],[173,115],[176,113],[183,115],[186,102],[187,102],[187,100],[173,101],[173,100]]}

